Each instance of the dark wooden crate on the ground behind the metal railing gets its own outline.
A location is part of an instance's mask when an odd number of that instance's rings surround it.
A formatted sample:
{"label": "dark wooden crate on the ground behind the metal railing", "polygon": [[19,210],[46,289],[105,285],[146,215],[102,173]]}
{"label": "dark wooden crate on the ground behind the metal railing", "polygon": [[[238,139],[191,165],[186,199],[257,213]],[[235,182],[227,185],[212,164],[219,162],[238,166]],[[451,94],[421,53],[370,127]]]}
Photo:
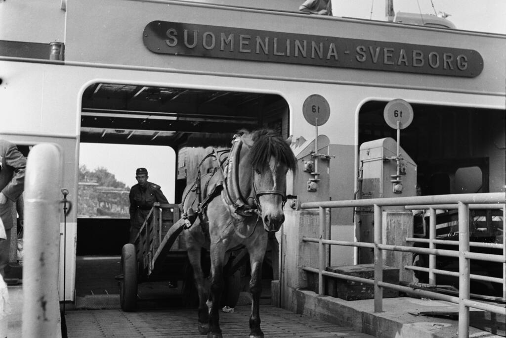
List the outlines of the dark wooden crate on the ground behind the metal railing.
{"label": "dark wooden crate on the ground behind the metal railing", "polygon": [[[374,279],[374,264],[327,267],[326,270],[343,275]],[[383,266],[383,281],[392,284],[399,284],[399,269]],[[374,298],[374,285],[326,276],[326,294],[346,299],[347,301],[372,299]],[[384,298],[398,296],[398,291],[383,288]]]}

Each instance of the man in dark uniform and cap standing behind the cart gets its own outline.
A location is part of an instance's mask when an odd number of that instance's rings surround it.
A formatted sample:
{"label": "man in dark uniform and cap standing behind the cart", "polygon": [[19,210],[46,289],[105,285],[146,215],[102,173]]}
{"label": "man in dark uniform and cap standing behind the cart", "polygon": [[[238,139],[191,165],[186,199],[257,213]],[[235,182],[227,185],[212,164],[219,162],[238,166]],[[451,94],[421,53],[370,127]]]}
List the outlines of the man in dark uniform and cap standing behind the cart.
{"label": "man in dark uniform and cap standing behind the cart", "polygon": [[160,186],[148,182],[148,171],[139,168],[136,171],[137,184],[130,190],[130,243],[134,243],[142,223],[155,202],[168,204],[167,199],[160,190]]}

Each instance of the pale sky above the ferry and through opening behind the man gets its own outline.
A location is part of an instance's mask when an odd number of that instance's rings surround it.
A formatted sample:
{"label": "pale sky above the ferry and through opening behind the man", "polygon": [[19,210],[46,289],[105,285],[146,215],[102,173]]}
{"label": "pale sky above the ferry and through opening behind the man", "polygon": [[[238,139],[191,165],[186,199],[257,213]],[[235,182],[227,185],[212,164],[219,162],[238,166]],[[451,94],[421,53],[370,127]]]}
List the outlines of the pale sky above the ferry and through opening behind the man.
{"label": "pale sky above the ferry and through opening behind the man", "polygon": [[[333,0],[332,12],[341,17],[384,20],[385,0]],[[506,34],[506,0],[394,0],[394,12],[445,12],[457,29]],[[145,167],[149,180],[159,184],[169,202],[174,202],[175,159],[168,146],[81,143],[79,165],[92,171],[105,167],[129,186],[137,183],[136,168]]]}

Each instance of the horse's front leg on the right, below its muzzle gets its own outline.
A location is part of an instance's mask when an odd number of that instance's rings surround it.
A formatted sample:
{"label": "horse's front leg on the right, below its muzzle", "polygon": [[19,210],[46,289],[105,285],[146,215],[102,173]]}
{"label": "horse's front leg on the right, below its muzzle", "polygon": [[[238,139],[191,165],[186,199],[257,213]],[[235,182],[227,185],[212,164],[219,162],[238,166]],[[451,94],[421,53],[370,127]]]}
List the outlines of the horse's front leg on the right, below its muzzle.
{"label": "horse's front leg on the right, below its muzzle", "polygon": [[[261,241],[262,242],[262,241]],[[265,245],[264,245],[265,243]],[[249,292],[251,292],[251,315],[249,317],[249,338],[263,338],[264,332],[260,328],[260,295],[262,293],[262,262],[266,250],[267,238],[263,243],[250,248],[249,263],[251,265],[251,279]]]}

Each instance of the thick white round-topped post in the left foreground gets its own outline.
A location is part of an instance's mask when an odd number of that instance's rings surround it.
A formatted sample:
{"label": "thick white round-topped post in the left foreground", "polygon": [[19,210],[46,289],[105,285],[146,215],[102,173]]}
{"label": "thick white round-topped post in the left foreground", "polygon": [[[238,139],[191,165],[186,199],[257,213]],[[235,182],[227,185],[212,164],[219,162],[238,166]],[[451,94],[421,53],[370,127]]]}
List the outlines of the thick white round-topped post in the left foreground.
{"label": "thick white round-topped post in the left foreground", "polygon": [[25,174],[22,336],[61,337],[58,299],[62,156],[35,145]]}

